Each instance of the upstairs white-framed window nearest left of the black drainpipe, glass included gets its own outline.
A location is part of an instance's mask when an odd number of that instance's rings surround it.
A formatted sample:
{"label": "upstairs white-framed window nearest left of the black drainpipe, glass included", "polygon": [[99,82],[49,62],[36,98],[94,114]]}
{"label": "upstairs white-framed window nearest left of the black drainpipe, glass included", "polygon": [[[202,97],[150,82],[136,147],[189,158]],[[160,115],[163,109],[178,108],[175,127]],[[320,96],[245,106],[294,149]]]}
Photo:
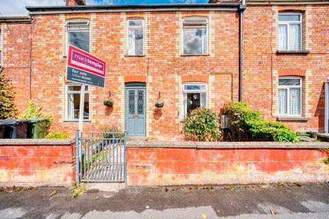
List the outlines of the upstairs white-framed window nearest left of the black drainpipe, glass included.
{"label": "upstairs white-framed window nearest left of the black drainpipe, glass included", "polygon": [[183,18],[183,55],[208,55],[208,18]]}

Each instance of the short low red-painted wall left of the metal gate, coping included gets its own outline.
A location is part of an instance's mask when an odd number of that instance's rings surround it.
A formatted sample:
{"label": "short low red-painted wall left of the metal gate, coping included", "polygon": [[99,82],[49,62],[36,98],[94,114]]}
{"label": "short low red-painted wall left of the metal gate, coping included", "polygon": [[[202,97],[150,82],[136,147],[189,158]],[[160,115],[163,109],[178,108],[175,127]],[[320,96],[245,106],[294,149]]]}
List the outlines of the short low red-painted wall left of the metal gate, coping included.
{"label": "short low red-painted wall left of the metal gate, coping included", "polygon": [[3,140],[0,184],[61,185],[75,180],[74,144],[68,140]]}

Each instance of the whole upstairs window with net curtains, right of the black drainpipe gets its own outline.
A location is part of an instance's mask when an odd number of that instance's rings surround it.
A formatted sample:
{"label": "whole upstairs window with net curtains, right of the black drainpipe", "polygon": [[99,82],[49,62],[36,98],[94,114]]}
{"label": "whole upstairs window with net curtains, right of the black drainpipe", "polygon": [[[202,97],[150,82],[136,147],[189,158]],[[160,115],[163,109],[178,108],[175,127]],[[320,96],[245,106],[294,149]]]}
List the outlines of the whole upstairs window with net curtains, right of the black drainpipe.
{"label": "whole upstairs window with net curtains, right of the black drainpipe", "polygon": [[279,50],[302,50],[302,13],[279,14]]}

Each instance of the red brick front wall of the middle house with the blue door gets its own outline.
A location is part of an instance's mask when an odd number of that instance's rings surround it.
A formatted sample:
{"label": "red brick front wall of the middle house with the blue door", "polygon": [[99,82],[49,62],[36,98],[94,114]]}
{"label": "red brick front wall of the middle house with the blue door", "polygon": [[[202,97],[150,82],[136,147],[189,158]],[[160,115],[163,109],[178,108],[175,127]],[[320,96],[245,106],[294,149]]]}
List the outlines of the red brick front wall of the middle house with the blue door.
{"label": "red brick front wall of the middle house with the blue door", "polygon": [[[178,30],[185,16],[209,18],[212,29],[209,33],[210,55],[181,56],[182,33]],[[125,55],[126,19],[131,17],[145,20],[145,56],[142,57]],[[231,93],[232,86],[234,90],[238,86],[239,19],[236,12],[114,12],[34,16],[32,99],[55,118],[51,131],[73,135],[78,127],[77,123],[64,121],[64,25],[71,18],[90,19],[90,52],[105,60],[108,66],[106,88],[90,88],[91,122],[85,123],[85,130],[103,129],[117,123],[124,129],[124,83],[131,79],[147,83],[147,137],[180,138],[182,78],[184,81],[198,76],[212,78],[209,90],[213,95],[208,105],[217,112],[227,99],[232,96],[237,99],[237,92]],[[230,62],[227,62],[228,59]],[[222,73],[228,74],[229,78],[217,75]],[[114,100],[110,108],[103,105],[109,91]],[[154,106],[159,91],[164,101],[161,112]]]}

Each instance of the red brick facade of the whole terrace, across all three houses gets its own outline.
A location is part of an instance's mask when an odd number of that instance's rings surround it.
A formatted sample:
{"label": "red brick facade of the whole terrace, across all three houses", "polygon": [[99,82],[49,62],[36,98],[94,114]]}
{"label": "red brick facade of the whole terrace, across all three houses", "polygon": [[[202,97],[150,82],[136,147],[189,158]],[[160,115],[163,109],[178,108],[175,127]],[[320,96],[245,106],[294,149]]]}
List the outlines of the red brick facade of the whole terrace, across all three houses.
{"label": "red brick facade of the whole terrace, across all three houses", "polygon": [[[276,54],[278,13],[303,12],[303,49],[308,54]],[[267,119],[278,116],[278,77],[303,77],[304,121],[284,121],[296,131],[324,131],[324,81],[329,76],[328,5],[248,5],[243,20],[243,101]],[[182,18],[205,16],[209,21],[209,55],[182,56]],[[146,135],[181,138],[182,83],[208,82],[208,107],[220,112],[237,101],[239,15],[230,11],[101,12],[34,15],[32,23],[32,99],[54,117],[51,131],[73,136],[76,122],[65,121],[65,21],[90,20],[90,52],[108,63],[106,88],[90,88],[90,122],[85,130],[110,125],[125,129],[125,82],[147,84]],[[127,18],[145,21],[145,56],[126,54]],[[110,22],[108,22],[110,21]],[[16,105],[25,110],[29,97],[29,24],[2,23],[3,72],[16,89]],[[154,104],[161,91],[162,110]],[[113,107],[103,99],[112,93]]]}

